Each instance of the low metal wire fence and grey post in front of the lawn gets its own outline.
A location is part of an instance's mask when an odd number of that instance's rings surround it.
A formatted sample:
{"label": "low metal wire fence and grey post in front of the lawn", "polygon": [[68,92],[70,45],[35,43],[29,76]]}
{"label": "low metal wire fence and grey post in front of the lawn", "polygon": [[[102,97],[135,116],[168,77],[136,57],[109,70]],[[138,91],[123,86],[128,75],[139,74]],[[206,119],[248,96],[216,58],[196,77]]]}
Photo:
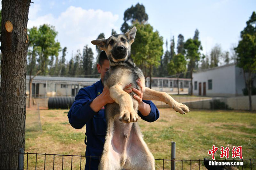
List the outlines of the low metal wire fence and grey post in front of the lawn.
{"label": "low metal wire fence and grey post in front of the lawn", "polygon": [[[203,159],[194,159],[194,160],[192,160],[192,159],[190,159],[190,160],[183,160],[183,159],[181,159],[181,160],[176,160],[175,159],[175,145],[176,145],[176,143],[175,142],[172,142],[172,150],[171,150],[171,159],[155,159],[155,161],[156,162],[162,162],[162,167],[161,167],[161,169],[163,169],[164,170],[164,167],[165,167],[165,165],[166,164],[169,164],[169,165],[171,165],[171,170],[175,170],[175,165],[176,164],[178,164],[179,165],[179,169],[181,169],[181,170],[183,170],[183,169],[190,169],[190,170],[192,170],[192,169],[199,169],[199,170],[201,170],[201,169],[205,169],[205,166],[204,166],[204,160]],[[61,165],[59,165],[59,163],[58,163],[58,166],[60,166],[61,167],[61,169],[63,170],[64,169],[64,163],[65,163],[65,161],[64,161],[64,157],[69,157],[69,158],[71,158],[71,167],[70,167],[70,169],[72,170],[72,169],[77,169],[77,167],[76,168],[74,168],[73,167],[73,164],[74,164],[74,158],[78,158],[78,160],[77,161],[79,161],[78,163],[80,163],[80,166],[79,166],[79,169],[81,170],[81,169],[84,169],[84,166],[82,166],[82,162],[84,161],[85,162],[85,158],[89,158],[89,169],[91,169],[91,159],[93,159],[93,158],[97,158],[98,160],[99,160],[99,162],[100,162],[100,156],[99,157],[97,157],[97,156],[84,156],[84,155],[68,155],[68,154],[47,154],[47,153],[29,153],[29,152],[24,152],[24,149],[23,148],[21,148],[20,149],[20,152],[0,152],[0,160],[2,160],[1,158],[2,158],[2,156],[7,156],[7,157],[9,157],[9,168],[8,169],[11,169],[11,158],[12,158],[12,155],[14,155],[14,154],[17,154],[18,155],[18,170],[22,170],[22,169],[26,169],[26,170],[28,170],[28,169],[39,169],[39,167],[37,166],[37,163],[38,163],[38,156],[39,155],[41,155],[41,156],[44,156],[44,160],[43,160],[43,162],[41,161],[41,163],[43,163],[43,166],[44,167],[40,167],[40,169],[47,169],[46,168],[46,156],[48,157],[48,156],[52,156],[52,161],[53,162],[51,162],[51,164],[52,164],[52,167],[53,167],[53,170],[54,170],[54,168],[56,169],[56,163],[55,163],[55,160],[56,160],[56,158],[58,157],[58,158],[61,158],[62,159],[62,161],[60,162],[60,164]],[[31,157],[31,156],[35,156],[35,160],[33,161],[34,162],[34,164],[32,165],[33,167],[29,167],[28,166],[28,159]],[[24,160],[24,161],[22,161],[22,160]],[[220,161],[224,161],[224,162],[244,162],[244,163],[247,163],[246,165],[246,167],[245,166],[238,166],[239,167],[239,169],[242,169],[242,170],[244,170],[244,169],[255,169],[255,161],[256,159],[216,159],[215,161],[217,161],[217,162],[220,162]],[[76,163],[77,163],[77,161],[76,161]],[[254,161],[254,162],[253,162]],[[193,166],[192,167],[192,165],[193,165],[193,163],[197,163],[196,164],[196,166]],[[186,164],[186,165],[185,165]],[[0,162],[0,169],[2,170],[3,169],[3,167],[2,167],[3,165],[2,165],[2,162]],[[65,169],[67,169],[67,168],[65,168]],[[168,168],[169,169],[169,168]]]}

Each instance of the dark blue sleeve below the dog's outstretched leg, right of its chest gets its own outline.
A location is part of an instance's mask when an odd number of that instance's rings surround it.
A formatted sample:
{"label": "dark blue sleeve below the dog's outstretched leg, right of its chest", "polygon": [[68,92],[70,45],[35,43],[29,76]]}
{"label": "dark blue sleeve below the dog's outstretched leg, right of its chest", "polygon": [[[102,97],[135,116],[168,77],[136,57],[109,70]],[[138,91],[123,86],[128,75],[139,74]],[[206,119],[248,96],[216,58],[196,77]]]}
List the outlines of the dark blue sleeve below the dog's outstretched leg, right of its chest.
{"label": "dark blue sleeve below the dog's outstretched leg, right of its chest", "polygon": [[147,122],[156,121],[159,118],[159,110],[157,109],[156,105],[151,100],[142,100],[142,101],[150,105],[151,111],[147,116],[141,115],[140,111],[138,111],[138,115],[141,117],[141,119]]}

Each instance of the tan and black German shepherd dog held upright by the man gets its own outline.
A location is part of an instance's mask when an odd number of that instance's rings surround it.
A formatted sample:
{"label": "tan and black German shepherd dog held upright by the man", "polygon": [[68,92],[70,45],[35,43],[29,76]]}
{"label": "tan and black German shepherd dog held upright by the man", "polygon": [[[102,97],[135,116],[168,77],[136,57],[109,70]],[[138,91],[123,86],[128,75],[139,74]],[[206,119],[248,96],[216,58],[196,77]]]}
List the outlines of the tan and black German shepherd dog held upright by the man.
{"label": "tan and black German shepherd dog held upright by the man", "polygon": [[[145,86],[142,71],[131,58],[131,45],[136,35],[134,26],[125,34],[112,35],[108,39],[93,40],[92,44],[104,50],[110,61],[105,74],[104,86],[109,89],[114,103],[105,107],[107,134],[100,159],[100,170],[154,170],[155,159],[143,140],[138,121],[138,101],[134,92],[124,92],[126,85],[143,91],[143,100],[158,100],[169,104],[176,112],[189,112],[186,105],[178,103],[165,92],[158,92]],[[143,48],[143,47],[142,47]],[[140,79],[142,89],[136,80]]]}

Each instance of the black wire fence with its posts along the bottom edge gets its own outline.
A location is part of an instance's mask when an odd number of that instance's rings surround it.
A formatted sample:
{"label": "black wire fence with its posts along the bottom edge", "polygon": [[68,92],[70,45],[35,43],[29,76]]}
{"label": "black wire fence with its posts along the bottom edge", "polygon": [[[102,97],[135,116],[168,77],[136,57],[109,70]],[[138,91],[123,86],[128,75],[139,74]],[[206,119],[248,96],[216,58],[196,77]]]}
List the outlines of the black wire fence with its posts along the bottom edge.
{"label": "black wire fence with its posts along the bottom edge", "polygon": [[[202,160],[202,159],[196,159],[196,160],[176,160],[175,159],[175,155],[176,155],[176,143],[175,142],[171,142],[172,147],[171,147],[171,159],[155,159],[155,162],[157,163],[157,169],[167,169],[165,168],[165,165],[167,164],[168,166],[170,165],[171,170],[175,170],[175,164],[177,163],[177,169],[199,169],[201,170],[201,168],[205,167],[206,163],[209,163],[209,161],[212,162],[212,160]],[[38,157],[41,157],[40,159],[38,159]],[[46,156],[47,156],[47,161],[46,161]],[[51,156],[51,160],[49,160],[49,156]],[[57,160],[58,157],[58,160]],[[69,157],[71,158],[71,162],[68,162],[68,160],[64,159]],[[5,164],[6,162],[8,162],[7,164],[9,165],[3,165],[2,164],[2,158],[5,158]],[[30,161],[30,163],[28,163],[29,158],[32,159],[32,161]],[[75,158],[76,161],[74,161]],[[89,158],[89,169],[91,169],[91,159],[98,159],[99,163],[100,163],[100,156],[84,156],[84,155],[68,155],[68,154],[47,154],[47,153],[25,153],[23,148],[20,148],[19,152],[0,152],[0,169],[1,170],[6,170],[6,169],[15,169],[17,170],[17,168],[11,168],[11,159],[18,159],[18,170],[22,170],[22,169],[37,169],[39,165],[37,165],[37,163],[40,163],[40,168],[38,169],[64,169],[64,163],[68,162],[68,166],[70,167],[70,169],[84,169],[84,163],[85,163],[85,159]],[[214,160],[214,162],[232,162],[233,165],[235,165],[234,163],[236,162],[236,164],[238,163],[238,168],[239,169],[255,169],[256,167],[256,159],[216,159]],[[159,164],[159,161],[162,162],[162,166],[159,166],[161,164]],[[253,162],[254,161],[254,162]],[[76,163],[74,165],[74,163]],[[82,166],[83,163],[83,166]],[[242,165],[241,165],[242,163]],[[51,164],[51,165],[50,165]],[[56,164],[58,167],[56,167]],[[71,165],[70,165],[71,164]],[[240,164],[240,165],[239,165]],[[74,166],[73,166],[74,165]],[[49,168],[49,166],[51,166]],[[67,167],[65,167],[65,169],[67,169]],[[168,169],[170,169],[168,167]],[[205,169],[205,168],[204,168]]]}

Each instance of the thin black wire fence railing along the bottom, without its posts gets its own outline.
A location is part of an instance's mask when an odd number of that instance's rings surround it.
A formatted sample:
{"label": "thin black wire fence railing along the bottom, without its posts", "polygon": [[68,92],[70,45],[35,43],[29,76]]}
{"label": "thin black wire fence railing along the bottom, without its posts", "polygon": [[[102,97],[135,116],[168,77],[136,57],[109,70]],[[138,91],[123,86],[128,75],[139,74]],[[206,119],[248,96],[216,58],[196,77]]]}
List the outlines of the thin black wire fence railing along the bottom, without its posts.
{"label": "thin black wire fence railing along the bottom, without its posts", "polygon": [[[7,156],[9,159],[9,165],[3,165],[2,162],[0,162],[0,169],[14,169],[11,168],[11,159],[13,158],[14,154],[18,155],[18,162],[19,162],[19,170],[21,169],[49,169],[49,164],[51,164],[51,169],[64,169],[64,158],[65,157],[69,157],[71,158],[71,162],[69,162],[69,164],[71,163],[71,165],[69,165],[69,168],[72,169],[84,169],[84,166],[82,166],[82,163],[84,165],[85,162],[85,158],[89,158],[90,160],[93,158],[97,158],[100,161],[100,157],[95,157],[95,156],[84,156],[84,155],[67,155],[67,154],[47,154],[47,153],[29,153],[29,152],[0,152],[0,159],[2,156]],[[17,156],[16,155],[16,156]],[[43,160],[42,158],[40,159],[40,161],[38,160],[38,156],[43,156]],[[52,161],[46,161],[46,157],[52,157]],[[33,159],[32,164],[30,162],[30,164],[28,164],[28,160]],[[58,161],[56,162],[56,158],[60,158],[62,159],[62,161]],[[76,166],[74,166],[74,158],[78,158],[78,160],[76,160]],[[24,161],[20,161],[23,160]],[[155,159],[156,163],[158,163],[158,169],[167,169],[165,168],[166,164],[171,165],[171,169],[175,170],[175,164],[176,166],[178,165],[179,167],[177,167],[177,169],[203,169],[204,166],[204,160],[203,159],[197,159],[197,160],[175,160],[175,159]],[[220,162],[220,161],[224,161],[224,162],[243,162],[246,163],[247,162],[247,166],[238,166],[239,169],[255,169],[255,164],[253,164],[253,161],[255,162],[256,159],[216,159],[215,161]],[[84,161],[84,162],[83,162]],[[162,166],[159,166],[159,162],[162,162]],[[38,166],[38,162],[40,162],[41,166]],[[77,163],[80,164],[79,167],[77,167]],[[90,161],[91,163],[91,161]],[[186,163],[186,165],[185,165]],[[196,163],[196,164],[195,164]],[[58,165],[58,167],[56,167],[56,164]],[[65,167],[65,169],[67,169],[67,167]],[[91,169],[91,165],[89,164],[89,169]],[[169,169],[169,168],[168,168]]]}

